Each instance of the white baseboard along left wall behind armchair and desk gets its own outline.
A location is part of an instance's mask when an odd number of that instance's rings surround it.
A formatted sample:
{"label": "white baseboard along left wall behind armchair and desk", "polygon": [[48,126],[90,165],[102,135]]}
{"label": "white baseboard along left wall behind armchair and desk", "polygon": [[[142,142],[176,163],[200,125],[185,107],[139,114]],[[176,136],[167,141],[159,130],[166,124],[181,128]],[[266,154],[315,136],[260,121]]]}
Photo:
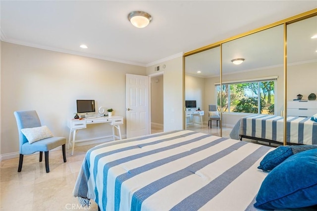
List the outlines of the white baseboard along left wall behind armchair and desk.
{"label": "white baseboard along left wall behind armchair and desk", "polygon": [[[122,139],[126,138],[126,135],[121,135],[121,137],[122,137]],[[119,138],[117,137],[117,139],[119,139]],[[76,140],[75,147],[89,145],[89,144],[104,143],[104,142],[108,142],[108,141],[112,141],[112,140],[113,140],[112,135]],[[67,150],[67,146],[68,146],[68,142],[66,143],[66,150]],[[55,150],[61,150],[61,146],[56,147],[50,151],[55,151]],[[69,150],[71,150],[71,147],[69,147]],[[31,155],[36,155],[36,154],[39,154],[39,152],[33,153]],[[29,155],[25,155],[25,156],[29,156]],[[18,157],[20,157],[20,152],[5,153],[5,154],[0,155],[0,161],[12,159],[12,158],[18,158]]]}

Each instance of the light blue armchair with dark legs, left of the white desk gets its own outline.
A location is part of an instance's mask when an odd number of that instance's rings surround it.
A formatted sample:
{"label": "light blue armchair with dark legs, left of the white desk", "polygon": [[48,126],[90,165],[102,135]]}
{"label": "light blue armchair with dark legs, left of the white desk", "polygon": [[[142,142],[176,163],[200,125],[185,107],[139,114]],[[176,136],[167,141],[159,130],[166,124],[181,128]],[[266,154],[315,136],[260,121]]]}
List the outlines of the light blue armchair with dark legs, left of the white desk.
{"label": "light blue armchair with dark legs, left of the white desk", "polygon": [[21,129],[41,127],[41,121],[36,111],[15,111],[14,116],[19,132],[19,148],[20,160],[18,172],[22,170],[23,155],[30,155],[35,152],[40,152],[40,162],[42,162],[43,152],[45,152],[45,167],[46,172],[50,172],[49,167],[49,151],[58,146],[62,146],[62,153],[64,163],[66,162],[65,144],[66,138],[64,137],[49,137],[42,140],[29,143],[26,136],[22,133]]}

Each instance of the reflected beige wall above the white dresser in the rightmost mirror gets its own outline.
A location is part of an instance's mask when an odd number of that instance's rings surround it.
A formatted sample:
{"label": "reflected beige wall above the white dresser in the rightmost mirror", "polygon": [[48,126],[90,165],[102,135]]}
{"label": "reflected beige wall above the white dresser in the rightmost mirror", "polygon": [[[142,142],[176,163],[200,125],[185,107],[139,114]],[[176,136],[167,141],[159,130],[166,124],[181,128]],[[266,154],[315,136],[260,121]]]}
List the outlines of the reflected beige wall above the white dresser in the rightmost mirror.
{"label": "reflected beige wall above the white dresser in the rightmost mirror", "polygon": [[317,95],[317,62],[287,67],[287,100],[296,99],[298,94],[303,99],[308,95]]}

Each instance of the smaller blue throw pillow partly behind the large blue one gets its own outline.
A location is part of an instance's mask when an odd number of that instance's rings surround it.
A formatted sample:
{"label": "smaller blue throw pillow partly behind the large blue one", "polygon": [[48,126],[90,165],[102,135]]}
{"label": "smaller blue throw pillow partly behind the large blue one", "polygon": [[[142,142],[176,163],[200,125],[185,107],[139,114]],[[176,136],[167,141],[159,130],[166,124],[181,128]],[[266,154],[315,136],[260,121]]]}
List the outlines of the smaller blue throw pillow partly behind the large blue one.
{"label": "smaller blue throw pillow partly behind the large blue one", "polygon": [[279,146],[264,156],[258,169],[264,171],[272,170],[293,154],[316,148],[317,145]]}

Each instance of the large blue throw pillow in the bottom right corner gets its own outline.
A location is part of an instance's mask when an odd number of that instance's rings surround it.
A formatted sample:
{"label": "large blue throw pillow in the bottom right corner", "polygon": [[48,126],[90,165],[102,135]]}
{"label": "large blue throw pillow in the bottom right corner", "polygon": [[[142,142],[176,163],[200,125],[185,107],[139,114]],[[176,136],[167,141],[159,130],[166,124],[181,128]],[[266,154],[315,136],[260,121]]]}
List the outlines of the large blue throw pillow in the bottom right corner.
{"label": "large blue throw pillow in the bottom right corner", "polygon": [[265,177],[254,206],[290,209],[317,205],[317,149],[287,158]]}

